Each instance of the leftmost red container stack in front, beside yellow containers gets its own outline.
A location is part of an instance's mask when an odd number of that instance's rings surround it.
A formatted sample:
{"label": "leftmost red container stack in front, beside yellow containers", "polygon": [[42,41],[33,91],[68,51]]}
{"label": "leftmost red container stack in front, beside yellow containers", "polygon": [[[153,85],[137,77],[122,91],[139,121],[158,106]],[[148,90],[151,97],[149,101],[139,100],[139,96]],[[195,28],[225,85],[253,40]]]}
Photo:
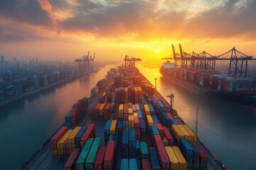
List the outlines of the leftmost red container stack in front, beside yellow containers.
{"label": "leftmost red container stack in front, beside yellow containers", "polygon": [[50,149],[51,149],[51,154],[58,154],[57,152],[57,143],[60,140],[61,137],[68,131],[67,126],[63,126],[58,130],[58,132],[53,135],[53,137],[50,139]]}

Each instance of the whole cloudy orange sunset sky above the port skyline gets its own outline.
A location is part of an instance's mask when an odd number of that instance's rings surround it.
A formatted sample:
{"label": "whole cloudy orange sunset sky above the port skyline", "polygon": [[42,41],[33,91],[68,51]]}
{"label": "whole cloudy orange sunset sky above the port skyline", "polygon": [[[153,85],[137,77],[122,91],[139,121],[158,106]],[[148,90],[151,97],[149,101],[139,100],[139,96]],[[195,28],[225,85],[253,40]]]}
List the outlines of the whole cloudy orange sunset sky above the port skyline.
{"label": "whole cloudy orange sunset sky above the port skyline", "polygon": [[[0,55],[7,60],[159,61],[171,44],[220,55],[256,56],[254,0],[1,0]],[[156,49],[159,51],[156,52]]]}

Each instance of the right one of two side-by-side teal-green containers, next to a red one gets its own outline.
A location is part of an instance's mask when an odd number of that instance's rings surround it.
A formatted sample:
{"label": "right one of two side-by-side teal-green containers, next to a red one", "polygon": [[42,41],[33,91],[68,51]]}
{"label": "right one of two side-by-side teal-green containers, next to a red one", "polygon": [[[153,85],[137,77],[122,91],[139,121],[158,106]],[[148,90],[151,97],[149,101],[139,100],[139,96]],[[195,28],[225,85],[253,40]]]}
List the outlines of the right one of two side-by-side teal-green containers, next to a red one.
{"label": "right one of two side-by-side teal-green containers, next to a red one", "polygon": [[101,137],[95,137],[95,140],[92,144],[88,157],[85,161],[85,169],[93,169],[93,163],[95,162],[95,157],[99,147],[102,145]]}

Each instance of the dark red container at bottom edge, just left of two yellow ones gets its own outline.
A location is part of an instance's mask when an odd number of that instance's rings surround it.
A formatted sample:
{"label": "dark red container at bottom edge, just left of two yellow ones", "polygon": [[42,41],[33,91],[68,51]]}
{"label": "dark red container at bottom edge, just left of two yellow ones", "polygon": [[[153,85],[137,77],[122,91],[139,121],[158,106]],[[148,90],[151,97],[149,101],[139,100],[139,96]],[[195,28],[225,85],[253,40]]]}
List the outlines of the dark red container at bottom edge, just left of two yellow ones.
{"label": "dark red container at bottom edge, just left of two yellow ones", "polygon": [[161,164],[161,169],[169,170],[170,169],[170,160],[166,153],[166,149],[164,147],[163,142],[156,140],[156,152],[159,156],[159,161]]}

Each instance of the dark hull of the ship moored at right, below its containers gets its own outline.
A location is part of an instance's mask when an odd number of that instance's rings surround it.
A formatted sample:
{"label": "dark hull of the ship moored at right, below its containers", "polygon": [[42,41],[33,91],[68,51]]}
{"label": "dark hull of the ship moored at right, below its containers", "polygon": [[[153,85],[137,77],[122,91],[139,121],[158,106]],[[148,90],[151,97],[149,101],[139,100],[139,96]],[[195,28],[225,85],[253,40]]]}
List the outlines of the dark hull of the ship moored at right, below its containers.
{"label": "dark hull of the ship moored at right, below its containers", "polygon": [[239,103],[245,106],[250,106],[252,108],[256,108],[256,96],[250,96],[248,94],[235,94],[235,93],[225,93],[221,91],[214,91],[212,89],[198,86],[197,84],[192,84],[191,82],[184,81],[182,79],[178,79],[176,77],[171,77],[169,74],[165,74],[164,72],[160,73],[163,75],[164,78],[169,79],[170,81],[174,82],[174,84],[178,84],[185,89],[195,91],[199,94],[203,94],[205,96],[210,96],[213,98],[218,98],[223,101],[229,101],[233,103]]}

